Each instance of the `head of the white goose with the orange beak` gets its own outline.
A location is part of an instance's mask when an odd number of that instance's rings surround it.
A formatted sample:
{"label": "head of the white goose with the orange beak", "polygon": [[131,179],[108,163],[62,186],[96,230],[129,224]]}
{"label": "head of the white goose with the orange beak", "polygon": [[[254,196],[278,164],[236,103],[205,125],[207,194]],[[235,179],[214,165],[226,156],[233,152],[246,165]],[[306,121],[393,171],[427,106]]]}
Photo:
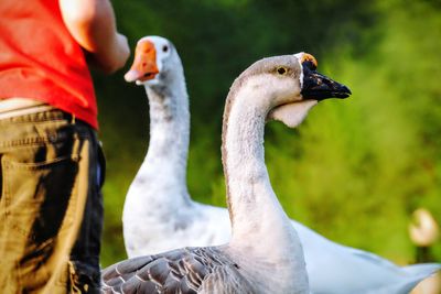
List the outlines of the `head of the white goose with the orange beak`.
{"label": "head of the white goose with the orange beak", "polygon": [[137,43],[133,64],[125,79],[146,87],[166,86],[179,74],[183,75],[182,63],[172,42],[162,36],[144,36]]}

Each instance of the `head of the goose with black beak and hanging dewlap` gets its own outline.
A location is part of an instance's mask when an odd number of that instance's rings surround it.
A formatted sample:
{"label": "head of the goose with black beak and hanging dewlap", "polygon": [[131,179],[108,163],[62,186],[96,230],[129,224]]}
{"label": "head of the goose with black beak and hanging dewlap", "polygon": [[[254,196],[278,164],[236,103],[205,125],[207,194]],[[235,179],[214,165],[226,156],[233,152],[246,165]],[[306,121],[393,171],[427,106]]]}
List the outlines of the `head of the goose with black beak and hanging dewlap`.
{"label": "head of the goose with black beak and hanging dewlap", "polygon": [[[230,95],[259,97],[252,105],[267,110],[267,121],[279,120],[294,128],[319,101],[352,94],[346,86],[318,73],[316,66],[316,59],[304,52],[263,58],[236,79]],[[238,90],[245,92],[235,95]]]}

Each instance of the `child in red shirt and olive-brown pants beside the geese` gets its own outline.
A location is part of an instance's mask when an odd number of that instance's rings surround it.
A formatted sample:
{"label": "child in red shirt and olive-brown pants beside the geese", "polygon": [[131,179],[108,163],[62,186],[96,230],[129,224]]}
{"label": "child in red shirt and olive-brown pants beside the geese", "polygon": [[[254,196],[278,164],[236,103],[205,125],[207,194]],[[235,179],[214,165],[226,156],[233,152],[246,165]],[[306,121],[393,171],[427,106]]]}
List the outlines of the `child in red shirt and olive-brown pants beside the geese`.
{"label": "child in red shirt and olive-brown pants beside the geese", "polygon": [[130,55],[109,0],[0,3],[1,293],[97,293],[104,159],[89,65]]}

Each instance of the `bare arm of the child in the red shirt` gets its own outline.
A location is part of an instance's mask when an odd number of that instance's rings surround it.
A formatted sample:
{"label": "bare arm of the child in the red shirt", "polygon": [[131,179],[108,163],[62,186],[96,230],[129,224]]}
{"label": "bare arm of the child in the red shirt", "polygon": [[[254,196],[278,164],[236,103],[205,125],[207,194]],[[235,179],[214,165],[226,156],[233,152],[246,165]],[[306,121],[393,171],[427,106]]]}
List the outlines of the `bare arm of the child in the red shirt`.
{"label": "bare arm of the child in the red shirt", "polygon": [[60,9],[71,34],[100,69],[110,74],[126,64],[130,48],[116,30],[109,0],[60,0]]}

